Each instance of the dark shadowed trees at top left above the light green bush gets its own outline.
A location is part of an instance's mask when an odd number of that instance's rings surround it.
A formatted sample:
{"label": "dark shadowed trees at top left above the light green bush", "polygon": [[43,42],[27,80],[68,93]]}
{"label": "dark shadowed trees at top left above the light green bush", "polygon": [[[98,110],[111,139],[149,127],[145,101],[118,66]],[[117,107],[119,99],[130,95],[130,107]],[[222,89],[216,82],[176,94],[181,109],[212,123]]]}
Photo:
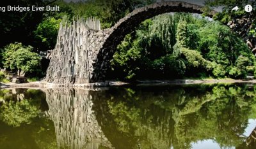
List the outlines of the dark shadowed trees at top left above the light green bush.
{"label": "dark shadowed trees at top left above the light green bush", "polygon": [[[1,6],[47,6],[56,0],[10,0]],[[5,11],[0,13],[0,48],[15,41],[36,47],[33,31],[49,11]]]}

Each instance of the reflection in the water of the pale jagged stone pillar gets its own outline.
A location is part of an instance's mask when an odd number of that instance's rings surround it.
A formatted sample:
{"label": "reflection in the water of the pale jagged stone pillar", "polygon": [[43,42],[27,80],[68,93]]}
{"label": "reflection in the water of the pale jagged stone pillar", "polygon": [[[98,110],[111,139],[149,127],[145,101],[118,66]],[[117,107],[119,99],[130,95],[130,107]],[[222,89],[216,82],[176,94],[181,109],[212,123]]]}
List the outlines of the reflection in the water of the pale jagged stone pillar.
{"label": "reflection in the water of the pale jagged stone pillar", "polygon": [[92,110],[90,90],[47,89],[45,94],[60,148],[113,148]]}

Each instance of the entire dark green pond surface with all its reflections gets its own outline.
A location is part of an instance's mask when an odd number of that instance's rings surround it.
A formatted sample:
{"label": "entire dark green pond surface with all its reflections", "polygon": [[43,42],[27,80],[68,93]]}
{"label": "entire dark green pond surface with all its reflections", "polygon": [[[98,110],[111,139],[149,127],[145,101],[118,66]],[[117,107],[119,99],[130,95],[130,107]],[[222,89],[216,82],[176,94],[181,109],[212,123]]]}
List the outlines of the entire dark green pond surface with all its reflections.
{"label": "entire dark green pond surface with all its reflections", "polygon": [[0,148],[256,148],[256,86],[0,91]]}

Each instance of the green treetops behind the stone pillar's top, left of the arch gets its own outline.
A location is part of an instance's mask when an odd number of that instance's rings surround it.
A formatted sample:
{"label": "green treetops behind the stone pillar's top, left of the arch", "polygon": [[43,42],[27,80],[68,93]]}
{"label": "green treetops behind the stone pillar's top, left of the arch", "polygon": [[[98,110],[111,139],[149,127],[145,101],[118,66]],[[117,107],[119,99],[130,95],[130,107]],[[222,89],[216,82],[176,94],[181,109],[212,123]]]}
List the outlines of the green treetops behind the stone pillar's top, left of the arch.
{"label": "green treetops behind the stone pillar's top, left of the arch", "polygon": [[88,0],[67,5],[72,8],[74,16],[96,17],[102,28],[109,28],[132,10],[154,2],[155,0]]}

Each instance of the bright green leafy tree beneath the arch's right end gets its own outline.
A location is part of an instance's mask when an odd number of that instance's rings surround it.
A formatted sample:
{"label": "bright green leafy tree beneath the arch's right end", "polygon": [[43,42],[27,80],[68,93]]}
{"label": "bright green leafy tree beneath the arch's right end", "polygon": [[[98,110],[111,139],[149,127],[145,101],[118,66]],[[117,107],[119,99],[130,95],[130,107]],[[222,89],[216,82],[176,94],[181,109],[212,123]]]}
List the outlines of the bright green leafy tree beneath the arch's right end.
{"label": "bright green leafy tree beneath the arch's right end", "polygon": [[[246,66],[253,66],[255,57],[242,39],[220,22],[209,22],[198,29],[198,32],[200,37],[198,51],[206,60],[216,63],[214,76],[228,75],[232,78],[245,78]],[[243,55],[243,58],[240,55]],[[241,59],[246,59],[247,62],[241,64]]]}

